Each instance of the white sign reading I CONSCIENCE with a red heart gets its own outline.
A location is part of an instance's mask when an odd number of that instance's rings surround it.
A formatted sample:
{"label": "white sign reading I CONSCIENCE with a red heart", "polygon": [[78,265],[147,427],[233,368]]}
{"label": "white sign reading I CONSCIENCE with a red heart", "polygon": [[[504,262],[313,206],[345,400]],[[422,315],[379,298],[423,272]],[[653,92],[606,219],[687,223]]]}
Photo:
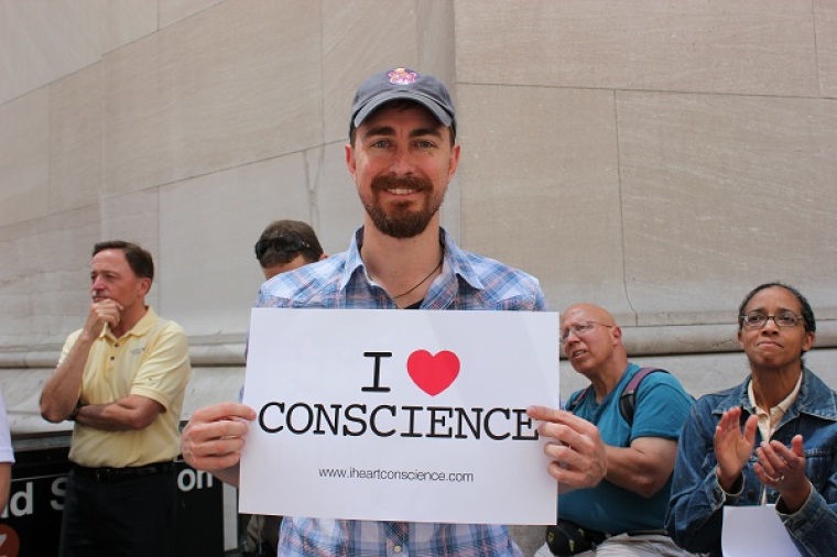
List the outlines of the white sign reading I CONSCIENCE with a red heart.
{"label": "white sign reading I CONSCIENCE with a red heart", "polygon": [[256,308],[243,513],[554,524],[558,315]]}

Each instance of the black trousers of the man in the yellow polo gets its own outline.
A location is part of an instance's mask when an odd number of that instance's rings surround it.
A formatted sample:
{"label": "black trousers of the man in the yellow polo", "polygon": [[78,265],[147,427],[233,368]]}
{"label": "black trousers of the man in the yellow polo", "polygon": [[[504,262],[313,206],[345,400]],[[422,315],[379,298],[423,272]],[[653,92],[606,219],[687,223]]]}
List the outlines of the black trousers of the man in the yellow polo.
{"label": "black trousers of the man in the yellow polo", "polygon": [[99,480],[72,469],[59,557],[167,557],[175,553],[177,473]]}

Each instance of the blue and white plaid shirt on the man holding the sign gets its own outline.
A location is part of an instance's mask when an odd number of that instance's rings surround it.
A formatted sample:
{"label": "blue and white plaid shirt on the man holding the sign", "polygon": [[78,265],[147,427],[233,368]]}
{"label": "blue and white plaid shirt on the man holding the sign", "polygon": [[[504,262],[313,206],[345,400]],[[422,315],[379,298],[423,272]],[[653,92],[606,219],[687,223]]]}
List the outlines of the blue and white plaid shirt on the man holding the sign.
{"label": "blue and white plaid shirt on the man holding the sign", "polygon": [[[363,229],[349,250],[282,273],[259,291],[258,307],[395,309],[360,258]],[[502,263],[460,250],[441,230],[445,256],[421,309],[537,312],[546,303],[537,280]],[[312,496],[328,496],[327,493]],[[409,504],[409,502],[405,502]],[[431,524],[286,517],[281,556],[520,556],[508,528],[483,524]]]}

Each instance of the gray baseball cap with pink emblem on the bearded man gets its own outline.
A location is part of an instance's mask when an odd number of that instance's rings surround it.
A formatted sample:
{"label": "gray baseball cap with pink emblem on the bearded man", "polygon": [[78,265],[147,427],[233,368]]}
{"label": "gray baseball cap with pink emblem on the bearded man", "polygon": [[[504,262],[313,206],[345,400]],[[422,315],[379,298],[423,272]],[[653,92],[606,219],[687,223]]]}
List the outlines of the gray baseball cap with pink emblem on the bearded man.
{"label": "gray baseball cap with pink emblem on the bearded man", "polygon": [[351,128],[357,128],[382,105],[395,100],[414,100],[430,110],[443,125],[456,127],[454,102],[445,84],[431,75],[409,68],[376,74],[358,87],[351,102]]}

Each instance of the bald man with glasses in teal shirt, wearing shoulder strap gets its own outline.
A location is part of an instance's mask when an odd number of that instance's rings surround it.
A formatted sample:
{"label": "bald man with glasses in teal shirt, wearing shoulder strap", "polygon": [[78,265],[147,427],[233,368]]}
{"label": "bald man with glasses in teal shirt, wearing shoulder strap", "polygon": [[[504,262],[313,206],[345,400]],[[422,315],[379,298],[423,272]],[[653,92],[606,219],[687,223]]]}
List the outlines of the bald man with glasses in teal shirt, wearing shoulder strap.
{"label": "bald man with glasses in teal shirt, wearing shoulder strap", "polygon": [[[559,522],[547,528],[546,544],[535,556],[689,555],[667,536],[664,521],[692,396],[674,375],[651,372],[637,387],[632,416],[626,415],[621,395],[642,370],[628,361],[621,328],[599,306],[565,309],[561,342],[573,369],[590,384],[567,398],[566,409],[576,419],[565,425],[580,441],[569,444],[557,465],[578,470],[559,479]],[[602,456],[600,466],[590,467],[587,457],[595,452]]]}

